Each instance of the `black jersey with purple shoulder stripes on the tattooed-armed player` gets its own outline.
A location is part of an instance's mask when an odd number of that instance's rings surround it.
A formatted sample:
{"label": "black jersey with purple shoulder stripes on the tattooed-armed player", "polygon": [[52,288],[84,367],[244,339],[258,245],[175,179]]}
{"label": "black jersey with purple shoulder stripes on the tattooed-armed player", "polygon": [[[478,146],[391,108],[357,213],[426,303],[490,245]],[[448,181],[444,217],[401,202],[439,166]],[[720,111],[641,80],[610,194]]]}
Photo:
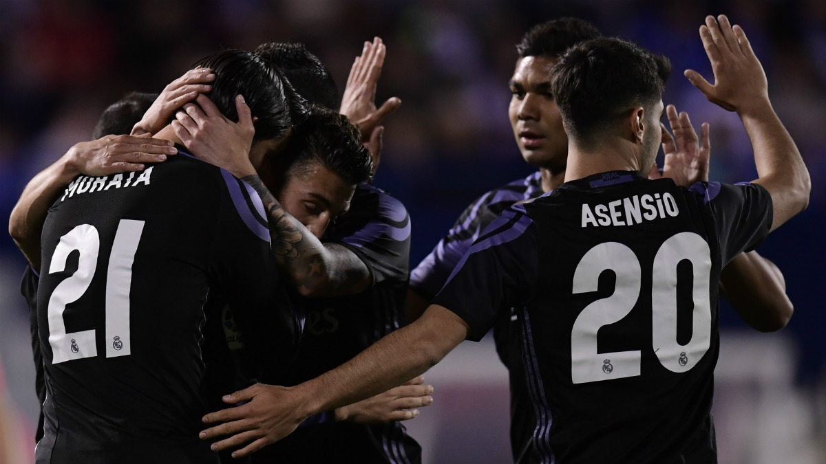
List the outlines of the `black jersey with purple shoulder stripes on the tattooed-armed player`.
{"label": "black jersey with purple shoulder stripes on the tattooed-armed player", "polygon": [[[297,362],[287,374],[290,385],[349,361],[404,321],[411,223],[401,201],[358,185],[349,211],[330,227],[325,241],[361,258],[373,285],[354,296],[302,299],[306,320]],[[400,422],[337,423],[332,413],[313,416],[271,448],[261,462],[421,462],[421,447]]]}

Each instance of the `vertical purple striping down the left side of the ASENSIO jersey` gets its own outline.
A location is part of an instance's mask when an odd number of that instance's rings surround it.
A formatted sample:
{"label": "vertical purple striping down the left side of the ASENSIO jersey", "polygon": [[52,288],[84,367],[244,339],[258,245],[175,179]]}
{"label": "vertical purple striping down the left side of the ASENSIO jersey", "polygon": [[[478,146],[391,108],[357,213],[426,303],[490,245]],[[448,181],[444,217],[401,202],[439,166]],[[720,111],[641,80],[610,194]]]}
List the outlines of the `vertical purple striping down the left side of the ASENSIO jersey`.
{"label": "vertical purple striping down the left side of the ASENSIO jersey", "polygon": [[534,404],[534,414],[536,417],[534,448],[539,454],[540,462],[543,464],[554,464],[556,457],[553,455],[550,442],[553,414],[551,414],[551,409],[548,407],[548,399],[545,397],[542,374],[539,372],[539,362],[537,362],[536,359],[534,333],[530,328],[528,308],[522,308],[522,316],[522,359],[525,363],[525,374],[528,376],[528,390],[530,392],[531,402]]}

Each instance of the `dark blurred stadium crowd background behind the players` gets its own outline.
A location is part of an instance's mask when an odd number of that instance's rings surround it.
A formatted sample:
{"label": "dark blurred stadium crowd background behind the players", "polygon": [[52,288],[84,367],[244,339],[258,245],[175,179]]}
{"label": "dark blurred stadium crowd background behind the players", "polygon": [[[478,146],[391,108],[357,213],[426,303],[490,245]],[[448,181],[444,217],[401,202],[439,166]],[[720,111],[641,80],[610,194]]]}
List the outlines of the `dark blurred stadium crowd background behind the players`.
{"label": "dark blurred stadium crowd background behind the players", "polygon": [[[507,83],[523,33],[537,22],[563,16],[591,20],[607,36],[666,54],[674,73],[664,101],[688,111],[697,128],[710,123],[712,180],[752,180],[751,146],[738,117],[707,102],[682,76],[683,69],[691,68],[711,80],[698,28],[705,15],[719,13],[743,26],[751,40],[766,69],[774,107],[795,138],[813,185],[809,209],[759,249],[786,276],[795,304],[790,324],[779,334],[752,333],[727,306],[721,309],[724,340],[733,341],[724,343],[718,368],[719,375],[727,369],[715,405],[726,407],[718,411],[719,433],[742,433],[736,420],[746,427],[751,422],[752,428],[754,420],[766,420],[777,424],[782,441],[782,433],[796,431],[789,424],[796,424],[805,434],[795,438],[802,444],[793,446],[798,452],[805,448],[800,462],[810,457],[810,462],[823,462],[822,0],[0,0],[0,217],[8,217],[26,182],[40,169],[72,144],[88,140],[103,108],[127,92],[159,92],[207,54],[221,48],[253,50],[264,41],[305,43],[330,68],[341,92],[363,42],[381,36],[387,60],[377,99],[396,96],[402,104],[386,121],[376,184],[410,211],[412,268],[470,201],[532,171],[516,149],[507,119]],[[0,360],[10,391],[10,400],[0,404],[17,409],[21,424],[31,426],[37,408],[31,346],[26,307],[17,290],[24,267],[12,240],[0,234]],[[722,362],[732,353],[741,354]],[[743,402],[743,391],[752,392],[769,415],[755,416],[756,403]],[[733,402],[721,406],[727,392]],[[792,409],[777,409],[777,401],[788,403],[790,397]],[[438,405],[437,398],[431,408]],[[488,419],[506,427],[506,409],[503,414]],[[778,440],[771,430],[762,432],[769,443]],[[734,435],[719,438],[721,462],[724,457],[765,461],[767,453],[758,452],[766,446],[759,433],[736,443],[730,438]],[[786,447],[792,443],[798,442],[786,440]],[[453,455],[425,453],[431,459],[446,456]]]}

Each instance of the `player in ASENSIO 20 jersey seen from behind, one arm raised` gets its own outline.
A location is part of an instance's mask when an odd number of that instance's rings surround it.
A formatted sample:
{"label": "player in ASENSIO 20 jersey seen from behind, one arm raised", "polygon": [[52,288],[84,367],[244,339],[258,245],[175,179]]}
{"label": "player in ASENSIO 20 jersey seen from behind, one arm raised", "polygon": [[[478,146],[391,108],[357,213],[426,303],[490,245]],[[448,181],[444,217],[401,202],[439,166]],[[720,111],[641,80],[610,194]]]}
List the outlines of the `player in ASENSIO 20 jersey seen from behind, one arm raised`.
{"label": "player in ASENSIO 20 jersey seen from behind, one arm raised", "polygon": [[738,112],[756,181],[685,188],[645,178],[661,140],[667,59],[619,39],[574,45],[551,87],[569,135],[566,182],[491,223],[415,323],[300,386],[230,395],[249,403],[208,414],[225,424],[202,438],[232,435],[216,447],[253,452],[319,410],[425,371],[481,338],[502,307],[524,306],[527,461],[716,461],[719,272],[805,209],[810,180],[743,30],[706,17],[700,36],[715,83],[686,77]]}

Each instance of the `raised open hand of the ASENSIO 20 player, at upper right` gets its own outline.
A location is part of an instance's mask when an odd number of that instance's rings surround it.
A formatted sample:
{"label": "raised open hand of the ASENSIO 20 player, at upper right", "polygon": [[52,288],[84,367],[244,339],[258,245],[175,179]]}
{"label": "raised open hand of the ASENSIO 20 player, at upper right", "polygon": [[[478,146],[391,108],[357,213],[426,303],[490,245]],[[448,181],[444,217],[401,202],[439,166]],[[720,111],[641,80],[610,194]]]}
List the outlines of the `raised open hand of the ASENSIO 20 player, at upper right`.
{"label": "raised open hand of the ASENSIO 20 player, at upper right", "polygon": [[743,29],[732,27],[725,15],[717,20],[708,16],[705,26],[700,26],[700,38],[714,71],[714,85],[693,69],[686,69],[686,78],[710,102],[726,110],[742,114],[752,107],[765,107],[768,102],[766,73]]}

